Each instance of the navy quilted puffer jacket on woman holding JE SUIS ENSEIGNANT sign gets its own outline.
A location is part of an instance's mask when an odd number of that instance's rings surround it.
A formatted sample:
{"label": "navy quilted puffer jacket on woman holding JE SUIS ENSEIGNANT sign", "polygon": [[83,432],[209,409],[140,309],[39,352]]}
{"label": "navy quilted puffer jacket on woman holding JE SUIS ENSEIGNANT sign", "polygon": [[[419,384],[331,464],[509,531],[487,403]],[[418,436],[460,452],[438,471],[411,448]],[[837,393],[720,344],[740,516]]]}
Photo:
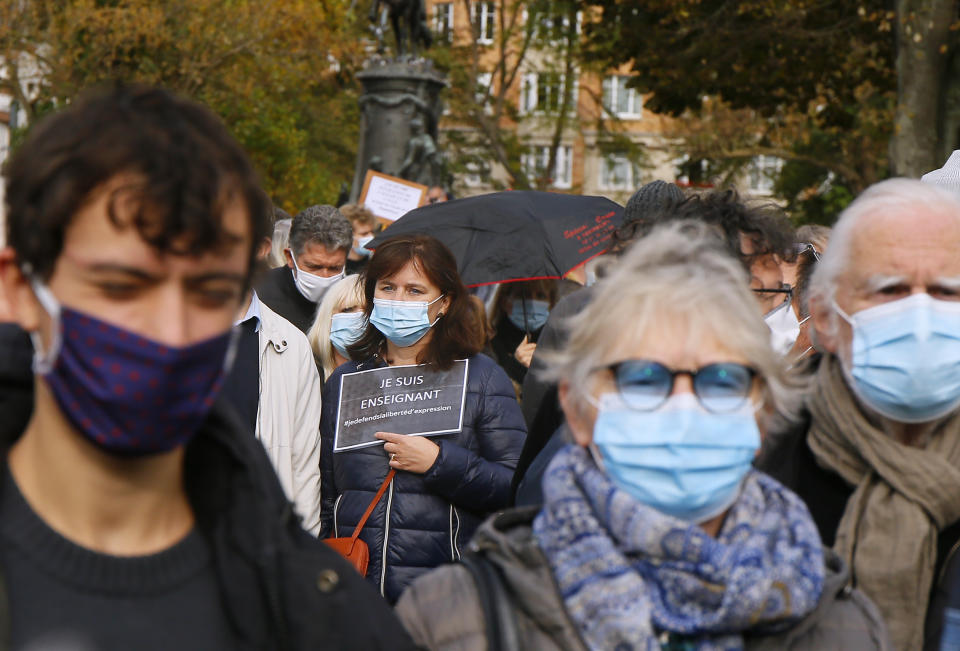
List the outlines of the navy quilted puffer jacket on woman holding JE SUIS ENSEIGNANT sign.
{"label": "navy quilted puffer jacket on woman holding JE SUIS ENSEIGNANT sign", "polygon": [[[350,536],[389,472],[382,445],[333,452],[340,376],[377,366],[348,362],[324,385],[322,537]],[[433,437],[440,453],[425,474],[397,472],[360,535],[370,546],[367,579],[390,603],[421,574],[457,560],[484,518],[507,506],[525,436],[506,373],[486,355],[471,357],[462,431]]]}

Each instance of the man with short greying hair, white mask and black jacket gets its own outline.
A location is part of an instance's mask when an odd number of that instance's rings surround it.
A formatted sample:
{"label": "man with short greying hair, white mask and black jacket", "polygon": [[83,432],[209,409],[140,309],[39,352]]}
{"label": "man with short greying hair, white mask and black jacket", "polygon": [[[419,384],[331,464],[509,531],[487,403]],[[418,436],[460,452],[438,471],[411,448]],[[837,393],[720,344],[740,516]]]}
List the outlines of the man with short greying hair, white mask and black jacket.
{"label": "man with short greying hair, white mask and black jacket", "polygon": [[257,294],[304,334],[313,325],[326,291],[343,278],[353,228],[333,206],[310,206],[293,218],[286,267],[267,272]]}

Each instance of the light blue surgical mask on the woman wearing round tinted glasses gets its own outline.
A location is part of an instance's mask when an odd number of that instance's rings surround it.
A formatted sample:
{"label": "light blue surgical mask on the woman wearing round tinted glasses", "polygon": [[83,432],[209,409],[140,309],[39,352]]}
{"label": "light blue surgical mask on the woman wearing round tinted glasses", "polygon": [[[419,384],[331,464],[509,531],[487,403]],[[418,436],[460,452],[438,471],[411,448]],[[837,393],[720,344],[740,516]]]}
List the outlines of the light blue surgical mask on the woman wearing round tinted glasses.
{"label": "light blue surgical mask on the woman wearing round tinted glasses", "polygon": [[700,523],[736,501],[760,448],[748,401],[731,413],[704,410],[693,394],[671,396],[654,411],[601,396],[591,450],[614,484],[637,501]]}

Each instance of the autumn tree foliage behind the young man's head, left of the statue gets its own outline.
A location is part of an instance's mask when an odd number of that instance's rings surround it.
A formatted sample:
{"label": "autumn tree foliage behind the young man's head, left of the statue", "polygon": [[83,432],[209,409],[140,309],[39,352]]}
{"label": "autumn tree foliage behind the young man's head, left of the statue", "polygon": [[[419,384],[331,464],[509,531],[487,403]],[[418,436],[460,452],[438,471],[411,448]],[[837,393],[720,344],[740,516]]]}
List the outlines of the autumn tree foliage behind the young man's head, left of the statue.
{"label": "autumn tree foliage behind the young man's head, left of the statue", "polygon": [[362,56],[347,0],[0,3],[0,90],[28,124],[84,88],[158,84],[216,111],[289,212],[350,178]]}

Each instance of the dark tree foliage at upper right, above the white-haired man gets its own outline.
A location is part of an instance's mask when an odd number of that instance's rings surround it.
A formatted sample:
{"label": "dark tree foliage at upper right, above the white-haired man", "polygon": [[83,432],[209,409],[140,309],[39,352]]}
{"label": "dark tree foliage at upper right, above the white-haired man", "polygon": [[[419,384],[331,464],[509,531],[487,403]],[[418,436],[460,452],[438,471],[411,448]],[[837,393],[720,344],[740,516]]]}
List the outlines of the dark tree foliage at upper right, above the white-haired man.
{"label": "dark tree foliage at upper right, above the white-haired man", "polygon": [[[917,92],[904,81],[945,69],[956,50],[956,0],[583,5],[595,17],[588,58],[630,62],[637,87],[651,93],[647,106],[692,121],[692,158],[783,158],[789,178],[778,191],[801,212],[816,199],[812,219],[828,219],[824,205],[891,172],[915,176],[939,165],[934,109],[945,89],[928,81]],[[704,96],[712,99],[705,104]],[[739,126],[722,128],[732,116]],[[817,198],[828,190],[831,198]]]}

